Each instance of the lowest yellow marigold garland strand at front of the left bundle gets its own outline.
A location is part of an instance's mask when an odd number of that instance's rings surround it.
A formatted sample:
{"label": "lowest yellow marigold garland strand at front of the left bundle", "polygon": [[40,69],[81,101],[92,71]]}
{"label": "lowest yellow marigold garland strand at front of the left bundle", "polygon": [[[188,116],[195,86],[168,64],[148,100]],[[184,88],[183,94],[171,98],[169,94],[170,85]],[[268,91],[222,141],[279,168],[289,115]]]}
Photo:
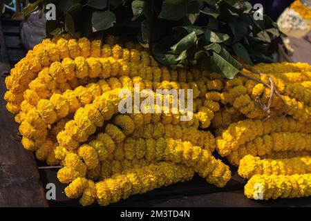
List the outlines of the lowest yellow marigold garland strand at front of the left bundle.
{"label": "lowest yellow marigold garland strand at front of the left bundle", "polygon": [[84,206],[92,204],[94,200],[106,206],[129,198],[129,195],[146,193],[161,186],[191,180],[193,175],[194,171],[185,166],[160,162],[115,174],[97,182],[95,186],[85,178],[77,178],[66,187],[65,193],[68,198],[79,198],[82,195],[80,203]]}

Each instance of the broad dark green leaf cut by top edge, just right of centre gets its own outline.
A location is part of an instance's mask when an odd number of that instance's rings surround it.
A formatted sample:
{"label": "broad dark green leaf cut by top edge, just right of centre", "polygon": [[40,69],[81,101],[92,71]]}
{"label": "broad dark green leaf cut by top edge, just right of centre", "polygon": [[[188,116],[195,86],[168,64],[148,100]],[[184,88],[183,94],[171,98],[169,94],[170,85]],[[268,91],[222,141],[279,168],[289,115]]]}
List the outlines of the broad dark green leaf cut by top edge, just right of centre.
{"label": "broad dark green leaf cut by top edge, just right of centre", "polygon": [[164,0],[159,19],[178,21],[187,15],[187,0]]}

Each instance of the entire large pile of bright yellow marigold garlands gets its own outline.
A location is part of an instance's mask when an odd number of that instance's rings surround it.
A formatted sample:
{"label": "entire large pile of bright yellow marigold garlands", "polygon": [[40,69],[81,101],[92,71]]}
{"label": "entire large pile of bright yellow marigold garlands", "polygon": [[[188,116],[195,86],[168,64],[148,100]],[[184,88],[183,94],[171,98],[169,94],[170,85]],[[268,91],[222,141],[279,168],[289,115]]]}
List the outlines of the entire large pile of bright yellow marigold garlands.
{"label": "entire large pile of bright yellow marigold garlands", "polygon": [[[122,89],[193,89],[194,115],[124,113]],[[198,67],[170,70],[133,42],[45,39],[6,77],[22,144],[61,165],[68,198],[104,206],[198,173],[223,187],[229,166],[268,198],[311,195],[311,66],[258,64],[234,79]],[[163,97],[162,97],[163,99]]]}

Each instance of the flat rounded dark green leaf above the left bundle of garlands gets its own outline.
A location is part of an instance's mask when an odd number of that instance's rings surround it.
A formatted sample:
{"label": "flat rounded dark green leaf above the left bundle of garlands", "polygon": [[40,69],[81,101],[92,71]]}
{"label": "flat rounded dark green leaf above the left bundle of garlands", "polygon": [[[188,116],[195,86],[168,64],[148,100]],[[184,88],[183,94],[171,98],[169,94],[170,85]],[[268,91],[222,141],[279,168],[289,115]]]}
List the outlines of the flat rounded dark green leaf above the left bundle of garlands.
{"label": "flat rounded dark green leaf above the left bundle of garlands", "polygon": [[116,21],[115,14],[111,11],[93,12],[92,26],[93,32],[107,30],[111,28]]}

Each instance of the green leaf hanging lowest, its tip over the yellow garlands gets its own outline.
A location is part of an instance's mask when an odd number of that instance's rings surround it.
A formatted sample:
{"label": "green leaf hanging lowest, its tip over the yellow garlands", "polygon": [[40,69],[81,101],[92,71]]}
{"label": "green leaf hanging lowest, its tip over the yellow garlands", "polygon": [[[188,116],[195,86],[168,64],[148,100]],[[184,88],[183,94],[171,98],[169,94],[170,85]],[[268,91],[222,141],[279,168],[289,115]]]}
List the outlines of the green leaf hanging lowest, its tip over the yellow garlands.
{"label": "green leaf hanging lowest, its tip over the yellow garlands", "polygon": [[239,70],[236,67],[216,52],[213,52],[213,55],[211,56],[211,67],[216,73],[220,73],[223,77],[228,79],[233,79],[234,76],[239,73]]}

